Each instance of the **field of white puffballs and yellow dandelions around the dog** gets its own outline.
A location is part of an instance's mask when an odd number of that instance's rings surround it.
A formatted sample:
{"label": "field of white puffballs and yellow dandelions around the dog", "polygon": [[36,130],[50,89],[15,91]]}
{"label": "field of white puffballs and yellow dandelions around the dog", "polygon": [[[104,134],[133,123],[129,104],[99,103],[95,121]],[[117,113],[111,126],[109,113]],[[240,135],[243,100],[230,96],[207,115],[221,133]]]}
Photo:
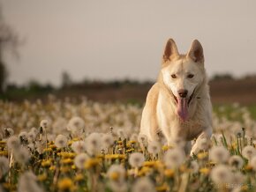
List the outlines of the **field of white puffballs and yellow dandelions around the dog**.
{"label": "field of white puffballs and yellow dandelions around the dog", "polygon": [[256,191],[256,122],[216,107],[211,140],[147,142],[142,107],[87,99],[0,101],[0,192]]}

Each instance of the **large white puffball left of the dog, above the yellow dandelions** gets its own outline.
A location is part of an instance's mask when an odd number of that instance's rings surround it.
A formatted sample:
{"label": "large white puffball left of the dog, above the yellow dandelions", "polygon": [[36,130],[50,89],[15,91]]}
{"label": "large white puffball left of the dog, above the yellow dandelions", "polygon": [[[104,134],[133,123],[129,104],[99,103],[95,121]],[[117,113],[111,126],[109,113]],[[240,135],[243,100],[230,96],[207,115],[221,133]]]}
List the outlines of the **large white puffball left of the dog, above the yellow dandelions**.
{"label": "large white puffball left of the dog, above the yellow dandelions", "polygon": [[89,155],[99,154],[102,147],[102,137],[99,133],[91,133],[86,138],[87,152]]}

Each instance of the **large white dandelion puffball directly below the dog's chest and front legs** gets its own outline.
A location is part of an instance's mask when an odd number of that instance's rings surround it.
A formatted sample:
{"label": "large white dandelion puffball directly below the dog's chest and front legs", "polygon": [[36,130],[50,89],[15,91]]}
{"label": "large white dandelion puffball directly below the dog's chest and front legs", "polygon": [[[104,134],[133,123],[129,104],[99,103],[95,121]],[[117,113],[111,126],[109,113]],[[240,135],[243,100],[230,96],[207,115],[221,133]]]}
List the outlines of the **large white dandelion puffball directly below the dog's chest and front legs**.
{"label": "large white dandelion puffball directly below the dog's chest and front legs", "polygon": [[185,159],[184,151],[180,148],[174,148],[167,151],[163,161],[168,168],[177,168]]}

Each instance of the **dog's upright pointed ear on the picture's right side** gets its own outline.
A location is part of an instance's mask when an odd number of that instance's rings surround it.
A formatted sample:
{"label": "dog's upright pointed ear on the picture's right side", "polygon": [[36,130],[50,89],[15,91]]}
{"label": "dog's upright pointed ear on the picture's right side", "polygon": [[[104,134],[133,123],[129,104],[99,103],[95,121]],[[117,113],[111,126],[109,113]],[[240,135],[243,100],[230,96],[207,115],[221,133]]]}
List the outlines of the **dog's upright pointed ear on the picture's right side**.
{"label": "dog's upright pointed ear on the picture's right side", "polygon": [[195,63],[204,63],[205,58],[204,58],[204,51],[203,47],[200,44],[200,41],[194,40],[192,41],[192,46],[186,55],[192,59]]}

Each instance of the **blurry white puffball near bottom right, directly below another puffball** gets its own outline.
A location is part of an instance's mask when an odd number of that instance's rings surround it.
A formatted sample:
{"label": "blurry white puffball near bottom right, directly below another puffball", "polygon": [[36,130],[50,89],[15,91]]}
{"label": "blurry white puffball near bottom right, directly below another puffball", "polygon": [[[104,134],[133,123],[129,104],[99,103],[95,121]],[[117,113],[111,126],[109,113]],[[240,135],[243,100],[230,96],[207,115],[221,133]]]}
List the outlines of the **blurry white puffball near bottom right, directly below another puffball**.
{"label": "blurry white puffball near bottom right, directly below another puffball", "polygon": [[228,184],[232,179],[232,172],[228,166],[221,164],[212,169],[210,177],[216,184]]}

